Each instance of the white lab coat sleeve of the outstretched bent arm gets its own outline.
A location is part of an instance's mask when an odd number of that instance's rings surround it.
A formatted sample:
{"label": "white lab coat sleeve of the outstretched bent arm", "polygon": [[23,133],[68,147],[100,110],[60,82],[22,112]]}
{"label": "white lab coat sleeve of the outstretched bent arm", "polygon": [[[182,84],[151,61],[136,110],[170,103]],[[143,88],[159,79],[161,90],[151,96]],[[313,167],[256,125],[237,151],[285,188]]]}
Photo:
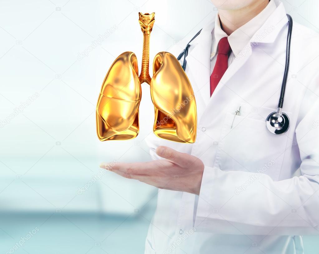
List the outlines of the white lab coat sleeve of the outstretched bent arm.
{"label": "white lab coat sleeve of the outstretched bent arm", "polygon": [[195,219],[197,232],[319,234],[319,99],[312,98],[316,99],[304,100],[308,112],[295,129],[301,175],[274,181],[260,174],[248,183],[253,173],[205,166]]}

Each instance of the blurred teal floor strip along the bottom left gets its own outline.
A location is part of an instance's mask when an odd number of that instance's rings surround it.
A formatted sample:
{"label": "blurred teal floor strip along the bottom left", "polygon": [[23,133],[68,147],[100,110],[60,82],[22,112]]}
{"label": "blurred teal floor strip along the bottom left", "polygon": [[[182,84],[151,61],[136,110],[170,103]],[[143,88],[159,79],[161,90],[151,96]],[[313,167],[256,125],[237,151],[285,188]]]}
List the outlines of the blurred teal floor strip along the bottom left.
{"label": "blurred teal floor strip along the bottom left", "polygon": [[63,213],[2,214],[0,253],[10,253],[22,237],[22,246],[14,250],[16,254],[141,254],[148,226],[149,218],[139,214],[126,218]]}

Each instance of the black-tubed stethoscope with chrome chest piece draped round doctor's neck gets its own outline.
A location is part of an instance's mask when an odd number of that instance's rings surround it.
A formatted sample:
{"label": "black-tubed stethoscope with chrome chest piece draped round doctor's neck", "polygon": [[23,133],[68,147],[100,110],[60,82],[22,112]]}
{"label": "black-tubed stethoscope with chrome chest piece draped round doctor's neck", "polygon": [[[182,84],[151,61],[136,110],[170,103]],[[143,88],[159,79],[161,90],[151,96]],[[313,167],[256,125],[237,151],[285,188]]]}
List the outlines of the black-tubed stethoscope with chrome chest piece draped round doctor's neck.
{"label": "black-tubed stethoscope with chrome chest piece draped round doctor's neck", "polygon": [[[278,109],[277,111],[271,112],[266,119],[266,127],[271,133],[275,135],[284,134],[289,128],[289,117],[284,112],[282,112],[286,83],[288,79],[289,60],[290,60],[290,42],[291,42],[291,34],[293,30],[293,19],[289,14],[287,14],[287,17],[288,17],[288,33],[287,33],[287,43],[286,43],[286,64],[285,64],[284,78],[281,84]],[[182,61],[182,68],[184,71],[187,65],[186,57],[188,55],[188,50],[190,47],[189,43],[191,43],[200,34],[201,31],[202,29],[198,31],[198,33],[188,42],[185,49],[181,52],[181,54],[179,54],[177,58],[177,60],[181,60],[182,57],[184,57]]]}

